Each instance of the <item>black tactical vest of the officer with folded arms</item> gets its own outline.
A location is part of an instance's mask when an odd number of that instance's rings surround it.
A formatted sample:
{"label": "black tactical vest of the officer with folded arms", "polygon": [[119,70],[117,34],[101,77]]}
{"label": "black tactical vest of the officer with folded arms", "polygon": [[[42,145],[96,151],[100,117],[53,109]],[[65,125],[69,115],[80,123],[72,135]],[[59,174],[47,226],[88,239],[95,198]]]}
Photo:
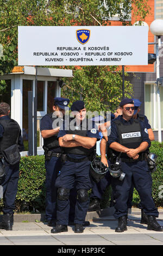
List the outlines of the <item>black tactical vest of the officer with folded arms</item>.
{"label": "black tactical vest of the officer with folded arms", "polygon": [[[86,122],[82,124],[82,126],[79,126],[79,129],[74,130],[74,124],[70,123],[69,130],[66,131],[67,134],[74,134],[74,135],[79,135],[83,137],[87,137],[87,131],[88,131],[88,120],[86,119]],[[78,128],[78,126],[76,126]],[[94,153],[96,150],[96,145],[91,148],[91,149],[86,149],[83,147],[73,147],[73,148],[64,148],[64,152],[66,154],[76,154],[76,155],[84,155],[84,156],[89,156],[92,153]]]}

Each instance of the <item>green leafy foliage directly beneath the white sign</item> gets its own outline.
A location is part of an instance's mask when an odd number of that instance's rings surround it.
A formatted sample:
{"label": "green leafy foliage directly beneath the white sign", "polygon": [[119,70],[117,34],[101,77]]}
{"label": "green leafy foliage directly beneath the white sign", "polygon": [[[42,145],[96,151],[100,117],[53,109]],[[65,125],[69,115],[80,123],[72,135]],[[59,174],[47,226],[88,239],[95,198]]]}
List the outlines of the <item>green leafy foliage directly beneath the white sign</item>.
{"label": "green leafy foliage directly beneath the white sign", "polygon": [[[64,80],[66,86],[62,88],[62,96],[71,102],[84,100],[90,111],[114,112],[122,100],[122,71],[117,71],[117,66],[74,68],[73,78]],[[131,97],[132,85],[126,80],[124,87],[126,97]]]}

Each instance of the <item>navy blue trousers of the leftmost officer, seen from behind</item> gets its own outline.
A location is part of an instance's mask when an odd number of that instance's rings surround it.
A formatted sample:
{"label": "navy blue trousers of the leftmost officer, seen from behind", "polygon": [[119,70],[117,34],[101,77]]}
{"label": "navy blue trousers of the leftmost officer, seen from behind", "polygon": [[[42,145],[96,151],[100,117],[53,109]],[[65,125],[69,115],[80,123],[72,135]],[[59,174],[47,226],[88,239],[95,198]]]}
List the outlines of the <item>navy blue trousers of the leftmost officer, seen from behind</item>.
{"label": "navy blue trousers of the leftmost officer, seen from behind", "polygon": [[19,178],[19,163],[13,166],[5,162],[5,179],[1,186],[3,189],[3,214],[13,214]]}

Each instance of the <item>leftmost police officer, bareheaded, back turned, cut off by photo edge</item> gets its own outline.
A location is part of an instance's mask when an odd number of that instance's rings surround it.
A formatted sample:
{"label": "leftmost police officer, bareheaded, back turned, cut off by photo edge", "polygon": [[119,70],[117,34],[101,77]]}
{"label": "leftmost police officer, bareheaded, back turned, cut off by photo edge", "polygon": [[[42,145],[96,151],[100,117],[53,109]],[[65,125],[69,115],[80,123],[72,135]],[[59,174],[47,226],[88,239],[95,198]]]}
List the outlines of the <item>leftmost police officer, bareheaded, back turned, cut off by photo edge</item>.
{"label": "leftmost police officer, bareheaded, back turned, cut off by photo edge", "polygon": [[3,219],[0,228],[12,230],[15,198],[19,178],[20,151],[24,150],[21,129],[9,117],[10,106],[0,103],[0,161],[4,164],[5,176],[1,181],[3,190]]}

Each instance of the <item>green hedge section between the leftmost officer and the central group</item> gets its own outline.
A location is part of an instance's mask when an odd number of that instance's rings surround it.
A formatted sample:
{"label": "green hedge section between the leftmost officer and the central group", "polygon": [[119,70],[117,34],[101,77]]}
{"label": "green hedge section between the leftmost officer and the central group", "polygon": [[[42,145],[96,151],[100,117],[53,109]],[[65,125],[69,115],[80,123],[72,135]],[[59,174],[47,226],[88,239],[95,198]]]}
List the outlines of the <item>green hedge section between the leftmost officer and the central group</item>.
{"label": "green hedge section between the leftmost officer and the central group", "polygon": [[[45,157],[21,157],[16,212],[45,211]],[[2,210],[1,200],[1,210]]]}

